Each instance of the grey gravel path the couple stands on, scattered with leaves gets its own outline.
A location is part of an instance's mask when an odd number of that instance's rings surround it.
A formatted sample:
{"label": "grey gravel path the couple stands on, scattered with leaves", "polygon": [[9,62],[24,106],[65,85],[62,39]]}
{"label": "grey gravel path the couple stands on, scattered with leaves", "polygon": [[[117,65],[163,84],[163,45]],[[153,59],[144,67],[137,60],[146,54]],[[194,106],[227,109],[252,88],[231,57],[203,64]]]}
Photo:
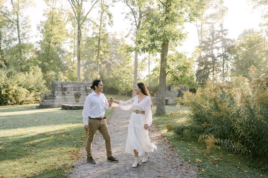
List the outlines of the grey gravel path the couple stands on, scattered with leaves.
{"label": "grey gravel path the couple stands on, scattered with leaves", "polygon": [[[97,131],[92,144],[92,154],[96,164],[89,164],[86,160],[85,148],[80,154],[82,160],[75,163],[74,172],[71,178],[143,178],[143,177],[195,177],[198,169],[188,165],[177,155],[177,151],[159,133],[158,128],[152,124],[149,127],[151,142],[157,146],[157,150],[150,153],[147,163],[142,163],[136,168],[132,168],[134,156],[125,151],[127,140],[127,128],[131,112],[123,111],[115,107],[115,112],[108,121],[110,130],[113,156],[119,162],[107,161],[105,142],[102,135]],[[143,155],[140,157],[140,163]]]}

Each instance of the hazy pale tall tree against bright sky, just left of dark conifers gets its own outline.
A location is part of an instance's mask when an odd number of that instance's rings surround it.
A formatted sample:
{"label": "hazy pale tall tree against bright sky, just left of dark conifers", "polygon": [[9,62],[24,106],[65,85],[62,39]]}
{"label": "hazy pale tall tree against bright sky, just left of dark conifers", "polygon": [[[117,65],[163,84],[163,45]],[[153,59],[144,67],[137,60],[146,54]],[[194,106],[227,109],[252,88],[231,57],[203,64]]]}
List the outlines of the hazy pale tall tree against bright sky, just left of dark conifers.
{"label": "hazy pale tall tree against bright sky, just left of dark conifers", "polygon": [[[214,28],[216,23],[220,20],[223,20],[225,13],[228,11],[227,7],[224,6],[223,0],[204,0],[204,7],[200,10],[200,15],[195,19],[198,42],[199,46],[202,45],[203,41],[208,37],[209,31]],[[201,74],[202,68],[202,54],[199,54],[198,57],[198,67],[197,75]],[[197,82],[198,79],[201,79],[201,76],[196,76]]]}

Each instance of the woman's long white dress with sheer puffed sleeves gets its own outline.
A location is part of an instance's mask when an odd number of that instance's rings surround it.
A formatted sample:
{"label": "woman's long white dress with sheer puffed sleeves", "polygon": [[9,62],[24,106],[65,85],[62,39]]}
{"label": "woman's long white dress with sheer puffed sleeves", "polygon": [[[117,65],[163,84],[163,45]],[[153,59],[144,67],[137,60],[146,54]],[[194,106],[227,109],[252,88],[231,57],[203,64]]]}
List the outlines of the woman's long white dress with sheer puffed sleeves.
{"label": "woman's long white dress with sheer puffed sleeves", "polygon": [[120,101],[119,106],[123,110],[140,110],[145,111],[144,114],[136,114],[132,112],[128,124],[127,144],[125,151],[134,155],[137,150],[138,156],[143,152],[153,152],[157,147],[151,143],[148,130],[144,129],[144,124],[152,125],[151,100],[146,96],[144,100],[138,103],[138,95],[128,101]]}

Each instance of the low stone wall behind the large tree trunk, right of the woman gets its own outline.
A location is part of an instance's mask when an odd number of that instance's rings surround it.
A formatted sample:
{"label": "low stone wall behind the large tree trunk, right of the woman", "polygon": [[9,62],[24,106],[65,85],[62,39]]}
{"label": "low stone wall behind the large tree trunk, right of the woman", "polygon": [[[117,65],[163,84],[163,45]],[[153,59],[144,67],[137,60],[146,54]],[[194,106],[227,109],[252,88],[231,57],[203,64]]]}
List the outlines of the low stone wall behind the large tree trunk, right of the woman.
{"label": "low stone wall behind the large tree trunk, right of the woman", "polygon": [[[188,87],[167,85],[166,86],[166,104],[176,104],[176,98],[182,97],[182,91],[189,91]],[[157,95],[152,96],[153,104],[157,103]]]}

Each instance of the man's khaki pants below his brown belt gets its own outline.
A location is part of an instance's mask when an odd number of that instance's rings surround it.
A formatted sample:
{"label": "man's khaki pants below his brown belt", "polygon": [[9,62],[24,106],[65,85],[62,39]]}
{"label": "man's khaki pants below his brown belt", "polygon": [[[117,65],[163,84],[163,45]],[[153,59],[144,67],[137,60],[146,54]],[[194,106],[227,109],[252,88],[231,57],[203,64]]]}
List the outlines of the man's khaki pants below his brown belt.
{"label": "man's khaki pants below his brown belt", "polygon": [[87,157],[91,157],[91,150],[92,150],[92,141],[94,139],[96,131],[99,130],[99,132],[102,134],[104,140],[105,140],[105,147],[106,147],[106,153],[107,158],[112,156],[112,148],[111,148],[111,138],[110,138],[110,132],[107,126],[106,119],[103,120],[95,120],[95,119],[88,119],[88,139],[87,139]]}

